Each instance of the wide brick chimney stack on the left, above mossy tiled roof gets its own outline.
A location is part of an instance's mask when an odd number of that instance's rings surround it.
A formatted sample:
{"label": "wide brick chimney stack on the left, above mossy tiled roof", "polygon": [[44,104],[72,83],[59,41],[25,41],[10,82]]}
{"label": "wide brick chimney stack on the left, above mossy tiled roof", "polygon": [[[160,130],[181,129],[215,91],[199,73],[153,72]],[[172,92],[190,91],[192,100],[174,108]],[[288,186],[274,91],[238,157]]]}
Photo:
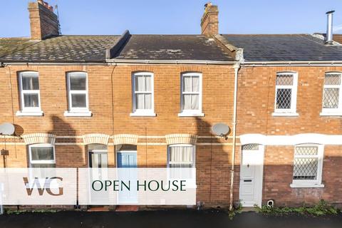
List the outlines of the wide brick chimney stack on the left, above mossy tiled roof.
{"label": "wide brick chimney stack on the left, above mossy tiled roof", "polygon": [[30,14],[31,40],[41,41],[48,36],[58,36],[58,16],[53,13],[53,7],[43,0],[28,3]]}

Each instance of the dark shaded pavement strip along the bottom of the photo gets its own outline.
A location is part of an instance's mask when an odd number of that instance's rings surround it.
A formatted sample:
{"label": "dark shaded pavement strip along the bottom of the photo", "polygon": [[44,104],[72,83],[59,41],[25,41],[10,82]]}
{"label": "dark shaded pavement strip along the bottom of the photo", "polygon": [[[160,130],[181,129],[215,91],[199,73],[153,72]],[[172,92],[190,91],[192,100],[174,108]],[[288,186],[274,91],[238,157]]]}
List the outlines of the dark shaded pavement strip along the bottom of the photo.
{"label": "dark shaded pavement strip along the bottom of the photo", "polygon": [[218,210],[162,210],[139,212],[26,212],[0,215],[0,227],[123,227],[123,228],[334,228],[342,227],[342,214],[325,217],[270,217],[256,212],[242,212],[230,220]]}

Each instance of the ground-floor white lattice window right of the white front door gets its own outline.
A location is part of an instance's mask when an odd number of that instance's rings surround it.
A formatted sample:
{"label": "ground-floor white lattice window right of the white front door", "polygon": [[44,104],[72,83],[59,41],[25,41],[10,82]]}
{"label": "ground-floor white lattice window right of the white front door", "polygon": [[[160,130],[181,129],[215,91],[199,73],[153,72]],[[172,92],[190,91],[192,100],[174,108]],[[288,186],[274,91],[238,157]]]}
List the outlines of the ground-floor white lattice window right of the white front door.
{"label": "ground-floor white lattice window right of the white front door", "polygon": [[297,145],[294,150],[293,185],[321,185],[323,145]]}

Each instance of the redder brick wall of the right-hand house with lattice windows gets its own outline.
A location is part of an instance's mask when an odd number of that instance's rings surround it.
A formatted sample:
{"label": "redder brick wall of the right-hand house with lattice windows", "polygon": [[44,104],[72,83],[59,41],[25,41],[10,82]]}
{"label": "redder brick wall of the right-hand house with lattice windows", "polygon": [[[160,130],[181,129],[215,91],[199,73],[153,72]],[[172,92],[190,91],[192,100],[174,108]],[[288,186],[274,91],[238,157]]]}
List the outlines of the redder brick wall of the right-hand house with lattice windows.
{"label": "redder brick wall of the right-hand house with lattice windows", "polygon": [[[298,117],[273,117],[275,78],[280,71],[298,73]],[[324,73],[342,71],[341,67],[284,66],[249,67],[239,71],[238,135],[296,135],[301,133],[342,134],[342,118],[320,116]],[[291,188],[294,146],[266,146],[264,156],[263,200],[275,199],[277,205],[312,204],[319,199],[341,204],[342,178],[336,170],[342,165],[342,147],[326,145],[323,160],[324,188]],[[237,150],[235,197],[239,199],[239,162]]]}

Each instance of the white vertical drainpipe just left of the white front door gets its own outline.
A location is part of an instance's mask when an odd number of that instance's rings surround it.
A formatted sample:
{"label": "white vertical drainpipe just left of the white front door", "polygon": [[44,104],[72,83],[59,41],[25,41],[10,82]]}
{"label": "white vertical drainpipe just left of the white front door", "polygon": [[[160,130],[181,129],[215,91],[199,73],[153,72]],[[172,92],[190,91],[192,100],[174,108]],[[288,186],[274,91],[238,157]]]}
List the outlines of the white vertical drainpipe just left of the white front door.
{"label": "white vertical drainpipe just left of the white front door", "polygon": [[240,63],[235,63],[234,66],[234,110],[233,110],[233,142],[232,142],[232,167],[230,169],[230,197],[229,210],[233,209],[233,190],[234,190],[234,161],[235,161],[235,145],[237,144],[237,83],[239,76]]}

